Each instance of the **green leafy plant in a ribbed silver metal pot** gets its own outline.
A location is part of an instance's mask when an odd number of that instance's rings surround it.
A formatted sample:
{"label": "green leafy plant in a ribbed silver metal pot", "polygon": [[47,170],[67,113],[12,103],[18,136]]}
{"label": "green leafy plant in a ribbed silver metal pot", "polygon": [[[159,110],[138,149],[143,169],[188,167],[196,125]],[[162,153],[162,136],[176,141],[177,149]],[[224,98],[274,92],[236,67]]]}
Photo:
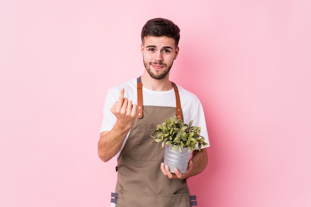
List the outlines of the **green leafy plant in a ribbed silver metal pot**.
{"label": "green leafy plant in a ribbed silver metal pot", "polygon": [[[184,124],[182,119],[176,116],[166,119],[161,125],[156,126],[152,136],[155,140],[151,143],[162,142],[164,147],[164,164],[169,166],[171,172],[177,167],[180,173],[187,170],[194,147],[198,145],[199,150],[208,143],[204,137],[200,136],[201,127],[192,126],[193,120],[189,124]],[[178,149],[178,150],[176,150]]]}

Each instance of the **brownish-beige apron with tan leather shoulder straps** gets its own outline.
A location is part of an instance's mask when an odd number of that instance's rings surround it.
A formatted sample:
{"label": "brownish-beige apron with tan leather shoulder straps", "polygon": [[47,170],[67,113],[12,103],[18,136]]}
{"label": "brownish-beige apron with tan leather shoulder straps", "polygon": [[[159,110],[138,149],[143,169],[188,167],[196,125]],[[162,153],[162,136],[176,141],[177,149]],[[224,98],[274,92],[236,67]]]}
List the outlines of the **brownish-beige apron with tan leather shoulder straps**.
{"label": "brownish-beige apron with tan leather shoulder straps", "polygon": [[[160,170],[163,148],[160,143],[150,144],[156,125],[174,115],[181,116],[177,86],[175,107],[144,106],[142,83],[138,79],[138,118],[118,157],[116,193],[111,202],[116,207],[190,207],[195,196],[189,195],[186,179],[168,179]],[[177,100],[178,99],[178,100]]]}

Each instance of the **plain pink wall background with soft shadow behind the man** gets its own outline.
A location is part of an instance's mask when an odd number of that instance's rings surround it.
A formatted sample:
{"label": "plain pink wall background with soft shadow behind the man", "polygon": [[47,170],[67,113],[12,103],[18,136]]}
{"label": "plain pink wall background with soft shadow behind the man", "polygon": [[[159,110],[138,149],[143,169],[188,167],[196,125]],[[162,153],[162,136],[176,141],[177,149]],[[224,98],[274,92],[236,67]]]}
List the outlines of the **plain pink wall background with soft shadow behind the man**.
{"label": "plain pink wall background with soft shadow behind the man", "polygon": [[310,207],[310,2],[1,0],[0,206],[109,206],[106,91],[142,74],[141,28],[164,17],[181,28],[171,80],[206,112],[198,207]]}

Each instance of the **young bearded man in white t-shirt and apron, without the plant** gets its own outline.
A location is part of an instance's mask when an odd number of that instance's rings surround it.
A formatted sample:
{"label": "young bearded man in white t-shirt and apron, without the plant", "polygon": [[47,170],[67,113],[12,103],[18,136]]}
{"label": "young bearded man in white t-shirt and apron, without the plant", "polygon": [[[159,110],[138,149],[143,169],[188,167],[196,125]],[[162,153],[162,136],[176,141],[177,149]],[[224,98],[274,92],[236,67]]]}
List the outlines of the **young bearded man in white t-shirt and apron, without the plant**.
{"label": "young bearded man in white t-shirt and apron, without the plant", "polygon": [[[152,142],[158,124],[178,115],[184,123],[193,120],[209,143],[205,116],[196,95],[169,80],[169,71],[179,52],[179,28],[172,21],[156,18],[142,29],[141,52],[145,70],[141,77],[109,89],[98,141],[98,156],[104,162],[116,156],[118,177],[112,206],[190,207],[186,178],[207,166],[206,148],[196,148],[188,169],[171,173],[163,164],[163,148]],[[180,97],[180,98],[179,98]],[[181,110],[176,109],[178,103]],[[209,146],[209,145],[208,145]]]}

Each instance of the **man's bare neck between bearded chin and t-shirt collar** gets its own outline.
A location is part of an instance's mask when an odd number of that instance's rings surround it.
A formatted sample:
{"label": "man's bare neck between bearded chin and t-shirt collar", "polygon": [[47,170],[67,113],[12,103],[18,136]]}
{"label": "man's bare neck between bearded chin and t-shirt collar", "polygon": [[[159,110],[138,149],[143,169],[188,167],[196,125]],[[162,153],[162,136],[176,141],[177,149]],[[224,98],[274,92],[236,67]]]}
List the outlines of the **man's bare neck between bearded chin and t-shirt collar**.
{"label": "man's bare neck between bearded chin and t-shirt collar", "polygon": [[173,85],[168,78],[168,74],[160,80],[152,78],[148,72],[142,75],[142,84],[144,87],[154,91],[167,91],[172,89]]}

